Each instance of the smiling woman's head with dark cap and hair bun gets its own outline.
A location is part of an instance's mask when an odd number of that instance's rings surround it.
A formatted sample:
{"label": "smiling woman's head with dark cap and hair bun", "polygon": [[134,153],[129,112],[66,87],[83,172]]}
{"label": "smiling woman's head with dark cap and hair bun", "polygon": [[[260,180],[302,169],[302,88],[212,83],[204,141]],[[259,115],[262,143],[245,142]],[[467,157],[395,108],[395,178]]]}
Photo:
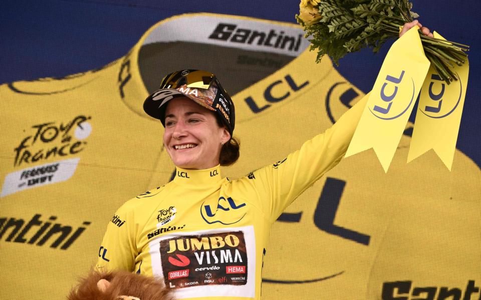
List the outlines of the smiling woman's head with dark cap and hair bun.
{"label": "smiling woman's head with dark cap and hair bun", "polygon": [[165,127],[164,145],[178,167],[206,169],[234,163],[234,104],[215,75],[201,70],[168,74],[144,102],[144,110]]}

